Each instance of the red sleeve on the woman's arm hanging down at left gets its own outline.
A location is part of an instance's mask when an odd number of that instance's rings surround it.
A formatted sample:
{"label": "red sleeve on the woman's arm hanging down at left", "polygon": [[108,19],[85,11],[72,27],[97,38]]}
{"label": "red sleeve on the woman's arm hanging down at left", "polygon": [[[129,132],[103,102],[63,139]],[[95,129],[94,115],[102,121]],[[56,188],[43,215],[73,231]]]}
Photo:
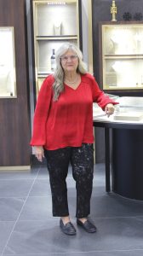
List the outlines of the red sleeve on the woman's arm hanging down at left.
{"label": "red sleeve on the woman's arm hanging down at left", "polygon": [[46,121],[49,115],[50,102],[52,100],[53,82],[54,78],[49,76],[43,81],[39,91],[33,119],[31,146],[42,146],[46,143]]}

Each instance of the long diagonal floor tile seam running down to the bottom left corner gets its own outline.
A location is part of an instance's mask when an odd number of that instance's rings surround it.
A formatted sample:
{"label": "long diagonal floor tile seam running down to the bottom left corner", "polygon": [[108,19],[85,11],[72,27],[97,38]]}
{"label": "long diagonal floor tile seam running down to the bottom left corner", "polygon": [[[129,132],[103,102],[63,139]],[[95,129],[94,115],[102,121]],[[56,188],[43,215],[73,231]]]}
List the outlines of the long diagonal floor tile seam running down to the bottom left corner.
{"label": "long diagonal floor tile seam running down to the bottom left corner", "polygon": [[[38,175],[38,173],[40,172],[40,168],[41,168],[41,166],[39,166],[39,169],[38,169],[38,171],[37,171],[37,175]],[[19,219],[20,219],[20,214],[21,214],[23,208],[24,208],[25,205],[26,205],[26,201],[27,201],[27,199],[28,199],[28,196],[29,196],[30,193],[31,193],[31,189],[32,189],[32,187],[33,187],[33,185],[34,185],[34,183],[35,183],[35,181],[36,181],[37,175],[36,175],[36,177],[33,179],[33,182],[31,183],[31,188],[29,189],[29,192],[28,192],[28,194],[27,194],[27,196],[26,196],[26,200],[23,202],[23,205],[22,205],[22,207],[21,207],[21,209],[20,209],[20,212],[19,212],[19,214],[18,214],[18,217],[17,217],[17,219],[15,220],[14,226],[13,226],[13,228],[12,228],[10,234],[9,234],[9,238],[8,238],[8,240],[6,241],[5,246],[3,247],[3,251],[2,251],[1,256],[3,256],[3,253],[4,253],[4,251],[5,251],[5,248],[6,248],[6,247],[8,246],[8,244],[9,244],[9,240],[10,240],[10,237],[12,236],[13,231],[14,231],[14,227],[16,226],[17,222],[18,222]]]}

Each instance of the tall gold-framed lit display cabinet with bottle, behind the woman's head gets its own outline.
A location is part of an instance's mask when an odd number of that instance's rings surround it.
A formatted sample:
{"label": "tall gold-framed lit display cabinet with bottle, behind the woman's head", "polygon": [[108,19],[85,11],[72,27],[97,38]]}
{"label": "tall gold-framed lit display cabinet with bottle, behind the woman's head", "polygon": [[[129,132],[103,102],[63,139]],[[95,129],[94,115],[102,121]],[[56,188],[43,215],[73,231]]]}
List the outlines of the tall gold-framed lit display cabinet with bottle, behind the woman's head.
{"label": "tall gold-framed lit display cabinet with bottle, behind the woman's head", "polygon": [[54,72],[56,49],[64,42],[79,46],[78,0],[33,0],[36,92],[43,79]]}

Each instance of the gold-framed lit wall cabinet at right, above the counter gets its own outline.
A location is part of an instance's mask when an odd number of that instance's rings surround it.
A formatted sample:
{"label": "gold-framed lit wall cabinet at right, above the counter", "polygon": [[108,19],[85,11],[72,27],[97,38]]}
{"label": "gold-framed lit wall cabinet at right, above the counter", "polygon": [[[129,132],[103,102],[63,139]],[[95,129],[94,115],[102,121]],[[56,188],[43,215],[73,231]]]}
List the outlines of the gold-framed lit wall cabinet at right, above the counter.
{"label": "gold-framed lit wall cabinet at right, above the counter", "polygon": [[141,22],[100,23],[100,53],[100,84],[103,90],[143,89]]}

